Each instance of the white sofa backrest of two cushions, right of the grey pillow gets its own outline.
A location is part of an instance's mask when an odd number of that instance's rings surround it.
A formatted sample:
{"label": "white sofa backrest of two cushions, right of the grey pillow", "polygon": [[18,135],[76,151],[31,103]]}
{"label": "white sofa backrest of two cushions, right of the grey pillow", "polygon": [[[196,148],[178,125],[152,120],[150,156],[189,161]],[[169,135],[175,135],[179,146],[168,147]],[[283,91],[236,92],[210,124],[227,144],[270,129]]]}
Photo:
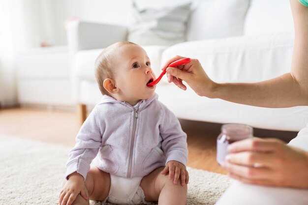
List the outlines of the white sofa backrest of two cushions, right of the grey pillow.
{"label": "white sofa backrest of two cushions, right of the grey pillow", "polygon": [[199,0],[187,40],[293,31],[289,0]]}

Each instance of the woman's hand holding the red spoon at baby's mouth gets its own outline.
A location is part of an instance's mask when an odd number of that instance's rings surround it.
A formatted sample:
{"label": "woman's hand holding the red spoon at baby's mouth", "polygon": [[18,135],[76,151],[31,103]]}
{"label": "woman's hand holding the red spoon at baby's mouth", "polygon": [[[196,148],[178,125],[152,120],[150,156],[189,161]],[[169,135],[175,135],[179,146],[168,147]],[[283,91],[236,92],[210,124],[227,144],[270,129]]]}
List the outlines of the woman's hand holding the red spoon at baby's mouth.
{"label": "woman's hand holding the red spoon at baby's mouth", "polygon": [[183,84],[185,81],[198,95],[210,97],[216,83],[208,77],[199,60],[191,59],[187,64],[168,67],[170,63],[184,58],[176,56],[165,63],[162,70],[166,69],[168,82],[173,82],[179,88],[186,90],[186,86]]}

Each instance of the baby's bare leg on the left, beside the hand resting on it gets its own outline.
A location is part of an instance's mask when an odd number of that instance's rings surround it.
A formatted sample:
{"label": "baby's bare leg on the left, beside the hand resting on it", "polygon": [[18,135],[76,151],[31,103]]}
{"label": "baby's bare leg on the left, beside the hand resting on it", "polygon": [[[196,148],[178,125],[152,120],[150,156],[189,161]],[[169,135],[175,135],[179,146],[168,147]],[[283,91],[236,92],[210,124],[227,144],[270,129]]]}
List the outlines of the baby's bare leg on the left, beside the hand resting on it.
{"label": "baby's bare leg on the left, beside the hand resting on it", "polygon": [[[90,200],[104,201],[109,194],[110,175],[96,167],[91,167],[85,180]],[[73,205],[89,205],[89,201],[85,200],[78,194]]]}

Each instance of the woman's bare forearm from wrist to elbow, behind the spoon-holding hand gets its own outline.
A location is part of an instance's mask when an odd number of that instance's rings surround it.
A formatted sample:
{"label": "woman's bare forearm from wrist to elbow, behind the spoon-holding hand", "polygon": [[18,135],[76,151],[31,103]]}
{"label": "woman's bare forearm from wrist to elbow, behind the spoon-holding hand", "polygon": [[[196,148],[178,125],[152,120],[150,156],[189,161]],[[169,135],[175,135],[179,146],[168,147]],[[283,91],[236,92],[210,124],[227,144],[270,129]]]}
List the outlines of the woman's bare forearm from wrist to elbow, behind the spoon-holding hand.
{"label": "woman's bare forearm from wrist to elbow, behind the spoon-holding hand", "polygon": [[216,84],[211,98],[268,108],[308,105],[308,94],[290,73],[258,83]]}

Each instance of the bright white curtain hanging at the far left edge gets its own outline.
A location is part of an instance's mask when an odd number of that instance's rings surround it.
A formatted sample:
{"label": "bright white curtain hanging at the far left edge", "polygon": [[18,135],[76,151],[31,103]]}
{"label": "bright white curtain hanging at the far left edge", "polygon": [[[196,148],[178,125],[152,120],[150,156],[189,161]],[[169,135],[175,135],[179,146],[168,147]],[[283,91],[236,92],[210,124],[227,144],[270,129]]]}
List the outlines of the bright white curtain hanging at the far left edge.
{"label": "bright white curtain hanging at the far left edge", "polygon": [[0,104],[17,103],[16,52],[24,44],[23,0],[0,0]]}

